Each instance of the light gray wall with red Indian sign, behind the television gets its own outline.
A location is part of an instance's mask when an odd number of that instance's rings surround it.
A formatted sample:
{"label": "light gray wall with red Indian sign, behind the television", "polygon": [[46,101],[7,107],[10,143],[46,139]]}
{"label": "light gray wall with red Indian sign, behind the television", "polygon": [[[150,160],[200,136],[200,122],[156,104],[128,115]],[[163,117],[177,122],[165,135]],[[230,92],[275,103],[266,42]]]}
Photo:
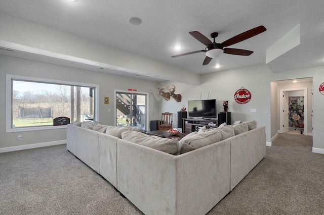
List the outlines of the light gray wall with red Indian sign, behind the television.
{"label": "light gray wall with red Indian sign, behind the television", "polygon": [[[256,120],[258,126],[266,127],[266,141],[271,144],[271,138],[275,137],[277,131],[280,130],[278,120],[280,116],[278,110],[278,92],[280,87],[277,86],[276,81],[313,77],[313,88],[315,89],[313,95],[313,147],[322,149],[321,153],[324,153],[324,142],[322,141],[324,138],[324,133],[322,132],[324,124],[321,123],[321,119],[324,117],[324,112],[322,111],[324,96],[318,91],[318,86],[324,82],[323,70],[324,67],[318,67],[273,73],[267,65],[263,64],[202,75],[202,84],[197,86],[165,82],[165,85],[175,84],[177,87],[176,93],[180,93],[183,99],[179,103],[172,99],[170,101],[161,100],[161,111],[175,113],[174,122],[176,123],[176,113],[180,111],[183,104],[187,106],[188,100],[200,99],[200,94],[203,91],[204,93],[201,98],[207,99],[208,91],[211,90],[209,98],[216,98],[218,100],[217,112],[223,110],[223,100],[229,100],[228,111],[231,112],[231,121]],[[311,83],[308,83],[307,87],[311,88],[310,85]],[[241,87],[248,89],[252,94],[251,101],[246,104],[238,104],[233,98],[235,91]],[[310,89],[308,90],[308,93],[310,93]],[[257,113],[250,113],[250,109],[257,109]],[[311,125],[311,123],[309,124]]]}

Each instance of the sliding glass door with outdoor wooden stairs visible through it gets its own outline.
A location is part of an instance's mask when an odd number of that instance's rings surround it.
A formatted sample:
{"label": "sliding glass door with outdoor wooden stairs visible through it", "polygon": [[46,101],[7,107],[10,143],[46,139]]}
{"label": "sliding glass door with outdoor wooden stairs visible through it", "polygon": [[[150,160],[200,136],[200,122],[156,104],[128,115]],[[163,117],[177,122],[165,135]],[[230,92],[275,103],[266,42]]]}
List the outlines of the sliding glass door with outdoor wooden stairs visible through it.
{"label": "sliding glass door with outdoor wooden stairs visible through it", "polygon": [[115,126],[146,130],[148,93],[115,90]]}

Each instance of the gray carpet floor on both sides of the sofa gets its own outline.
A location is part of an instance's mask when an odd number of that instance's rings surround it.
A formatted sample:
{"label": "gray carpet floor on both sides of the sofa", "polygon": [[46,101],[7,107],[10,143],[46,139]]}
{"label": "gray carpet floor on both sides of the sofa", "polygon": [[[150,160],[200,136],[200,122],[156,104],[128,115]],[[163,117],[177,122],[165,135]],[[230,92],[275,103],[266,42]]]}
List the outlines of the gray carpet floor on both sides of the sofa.
{"label": "gray carpet floor on both sides of the sofa", "polygon": [[[311,146],[279,134],[208,214],[323,214],[324,155]],[[0,153],[0,174],[0,214],[142,214],[66,145]]]}

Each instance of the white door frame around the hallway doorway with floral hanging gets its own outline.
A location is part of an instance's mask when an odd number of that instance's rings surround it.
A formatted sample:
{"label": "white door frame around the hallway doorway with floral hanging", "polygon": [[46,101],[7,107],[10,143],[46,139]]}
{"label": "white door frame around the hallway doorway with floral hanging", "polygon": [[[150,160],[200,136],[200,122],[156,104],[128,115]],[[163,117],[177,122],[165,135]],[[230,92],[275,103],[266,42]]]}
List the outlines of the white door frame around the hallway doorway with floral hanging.
{"label": "white door frame around the hallway doorway with floral hanging", "polygon": [[[286,91],[296,91],[296,90],[304,90],[304,129],[308,129],[308,91],[307,87],[301,87],[301,88],[292,88],[292,89],[280,89],[280,133],[284,133],[282,129],[282,125],[284,123],[284,119],[282,117],[282,110],[284,110],[284,104],[282,104],[282,95],[284,95],[284,92]],[[304,135],[308,135],[307,132],[304,132]]]}

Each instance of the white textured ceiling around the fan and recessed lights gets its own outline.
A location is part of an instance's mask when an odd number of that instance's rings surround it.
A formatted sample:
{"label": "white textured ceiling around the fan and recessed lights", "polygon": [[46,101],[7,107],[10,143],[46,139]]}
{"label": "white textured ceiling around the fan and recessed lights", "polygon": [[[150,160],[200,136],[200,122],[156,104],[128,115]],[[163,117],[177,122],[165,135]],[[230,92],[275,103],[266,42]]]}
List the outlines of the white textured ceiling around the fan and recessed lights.
{"label": "white textured ceiling around the fan and recessed lights", "polygon": [[[197,74],[265,64],[266,50],[300,25],[301,44],[268,63],[269,68],[282,72],[324,66],[322,0],[1,0],[0,11]],[[142,24],[130,24],[131,17],[141,18]],[[205,48],[189,31],[199,31],[208,38],[212,32],[218,32],[216,42],[221,43],[259,25],[267,30],[229,46],[253,50],[251,56],[222,54],[206,66],[202,65],[204,52],[171,58]],[[176,45],[182,49],[175,50]],[[0,54],[98,70],[25,52],[0,49]],[[216,69],[216,64],[221,67]]]}

